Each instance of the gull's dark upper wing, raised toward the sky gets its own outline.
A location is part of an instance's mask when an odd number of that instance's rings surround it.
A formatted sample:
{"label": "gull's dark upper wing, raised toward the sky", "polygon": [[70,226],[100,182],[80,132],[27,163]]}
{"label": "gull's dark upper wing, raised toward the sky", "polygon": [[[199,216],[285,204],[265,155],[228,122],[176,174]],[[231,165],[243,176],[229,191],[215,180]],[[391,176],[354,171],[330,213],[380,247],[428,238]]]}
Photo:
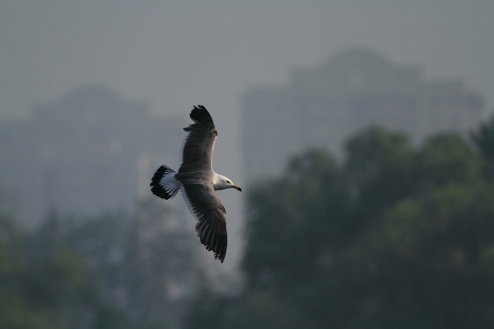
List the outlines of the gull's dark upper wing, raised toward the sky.
{"label": "gull's dark upper wing, raised toward the sky", "polygon": [[179,172],[212,170],[212,150],[218,136],[215,124],[203,105],[192,109],[191,119],[194,123],[183,128],[188,134],[183,140]]}

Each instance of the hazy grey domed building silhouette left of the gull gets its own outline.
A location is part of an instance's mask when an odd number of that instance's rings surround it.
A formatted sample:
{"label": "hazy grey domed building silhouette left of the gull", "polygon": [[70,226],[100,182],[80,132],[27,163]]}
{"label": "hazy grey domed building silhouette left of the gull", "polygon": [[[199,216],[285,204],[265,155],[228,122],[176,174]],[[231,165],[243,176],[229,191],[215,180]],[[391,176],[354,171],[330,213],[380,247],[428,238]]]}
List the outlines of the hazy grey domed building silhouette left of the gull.
{"label": "hazy grey domed building silhouette left of the gull", "polygon": [[0,122],[0,189],[29,224],[49,208],[134,210],[138,197],[152,196],[145,186],[154,169],[177,162],[182,127],[182,116],[152,116],[107,88],[77,88],[29,119]]}

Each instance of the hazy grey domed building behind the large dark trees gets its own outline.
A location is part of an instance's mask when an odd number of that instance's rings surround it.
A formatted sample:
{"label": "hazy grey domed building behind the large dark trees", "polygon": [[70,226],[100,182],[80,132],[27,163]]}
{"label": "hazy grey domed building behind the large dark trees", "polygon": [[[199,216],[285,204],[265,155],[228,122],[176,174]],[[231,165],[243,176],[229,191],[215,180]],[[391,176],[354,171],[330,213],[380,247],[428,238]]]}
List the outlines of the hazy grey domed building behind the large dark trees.
{"label": "hazy grey domed building behind the large dark trees", "polygon": [[416,66],[351,49],[295,71],[287,85],[243,95],[244,172],[246,179],[277,174],[287,157],[308,147],[339,155],[342,142],[369,125],[405,131],[414,142],[438,131],[468,131],[482,108],[481,95],[461,80],[426,81]]}

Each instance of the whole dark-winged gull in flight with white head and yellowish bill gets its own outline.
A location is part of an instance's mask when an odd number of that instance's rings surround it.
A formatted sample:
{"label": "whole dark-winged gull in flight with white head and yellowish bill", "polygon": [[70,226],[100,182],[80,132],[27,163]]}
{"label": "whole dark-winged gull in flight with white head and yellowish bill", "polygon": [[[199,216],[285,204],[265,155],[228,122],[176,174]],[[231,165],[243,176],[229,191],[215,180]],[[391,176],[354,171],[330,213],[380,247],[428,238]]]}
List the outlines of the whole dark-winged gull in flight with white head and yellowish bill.
{"label": "whole dark-winged gull in flight with white head and yellowish bill", "polygon": [[188,134],[182,143],[179,172],[163,164],[151,179],[151,191],[168,200],[180,190],[188,210],[198,221],[195,232],[200,243],[223,263],[227,254],[227,210],[215,191],[242,189],[212,170],[212,149],[218,132],[207,109],[194,106],[190,116],[194,124],[183,128]]}

